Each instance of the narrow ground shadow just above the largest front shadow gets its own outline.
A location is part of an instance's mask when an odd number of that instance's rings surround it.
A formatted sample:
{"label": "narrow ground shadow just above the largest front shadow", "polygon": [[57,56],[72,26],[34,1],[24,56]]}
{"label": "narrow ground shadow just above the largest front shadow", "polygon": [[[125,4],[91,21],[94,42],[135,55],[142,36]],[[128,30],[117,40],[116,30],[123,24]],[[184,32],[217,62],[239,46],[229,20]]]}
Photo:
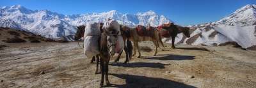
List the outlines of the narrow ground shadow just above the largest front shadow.
{"label": "narrow ground shadow just above the largest front shadow", "polygon": [[159,62],[132,62],[129,64],[116,64],[112,63],[109,64],[111,66],[122,66],[122,67],[128,67],[128,68],[143,68],[143,67],[148,67],[148,68],[160,68],[163,69],[164,66],[168,66],[171,64],[163,64]]}

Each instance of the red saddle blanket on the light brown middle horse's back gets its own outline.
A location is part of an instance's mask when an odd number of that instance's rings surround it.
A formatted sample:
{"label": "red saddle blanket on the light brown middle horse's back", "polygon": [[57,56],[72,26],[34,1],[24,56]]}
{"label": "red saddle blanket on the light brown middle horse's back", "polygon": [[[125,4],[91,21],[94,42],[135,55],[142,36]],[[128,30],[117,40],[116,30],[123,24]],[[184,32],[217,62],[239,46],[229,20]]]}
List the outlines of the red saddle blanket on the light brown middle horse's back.
{"label": "red saddle blanket on the light brown middle horse's back", "polygon": [[144,26],[137,26],[136,31],[139,36],[154,36],[154,28],[153,27],[144,27]]}

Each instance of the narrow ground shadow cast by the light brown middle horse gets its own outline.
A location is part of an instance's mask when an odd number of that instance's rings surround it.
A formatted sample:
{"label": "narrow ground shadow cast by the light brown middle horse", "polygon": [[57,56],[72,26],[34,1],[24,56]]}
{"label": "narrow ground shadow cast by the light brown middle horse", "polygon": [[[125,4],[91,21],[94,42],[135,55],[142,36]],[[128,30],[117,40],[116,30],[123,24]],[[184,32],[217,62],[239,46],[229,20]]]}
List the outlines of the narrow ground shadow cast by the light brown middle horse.
{"label": "narrow ground shadow cast by the light brown middle horse", "polygon": [[142,59],[157,59],[157,60],[193,60],[193,55],[174,55],[174,54],[159,54],[156,57],[141,57]]}

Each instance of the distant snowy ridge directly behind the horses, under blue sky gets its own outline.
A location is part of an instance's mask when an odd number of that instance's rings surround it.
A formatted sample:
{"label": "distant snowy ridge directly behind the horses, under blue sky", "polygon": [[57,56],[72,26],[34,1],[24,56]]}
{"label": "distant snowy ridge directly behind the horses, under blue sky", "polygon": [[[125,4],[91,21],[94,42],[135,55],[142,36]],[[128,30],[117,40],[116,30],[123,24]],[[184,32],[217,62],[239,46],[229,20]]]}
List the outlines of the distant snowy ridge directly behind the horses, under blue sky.
{"label": "distant snowy ridge directly behind the horses, under blue sky", "polygon": [[66,16],[65,20],[74,26],[79,26],[90,22],[104,22],[104,20],[108,18],[113,18],[120,24],[125,24],[127,26],[136,26],[138,24],[143,26],[159,26],[163,22],[171,22],[168,18],[164,17],[163,15],[159,16],[154,11],[147,11],[132,15],[127,13],[118,13],[116,10],[103,13],[70,15]]}

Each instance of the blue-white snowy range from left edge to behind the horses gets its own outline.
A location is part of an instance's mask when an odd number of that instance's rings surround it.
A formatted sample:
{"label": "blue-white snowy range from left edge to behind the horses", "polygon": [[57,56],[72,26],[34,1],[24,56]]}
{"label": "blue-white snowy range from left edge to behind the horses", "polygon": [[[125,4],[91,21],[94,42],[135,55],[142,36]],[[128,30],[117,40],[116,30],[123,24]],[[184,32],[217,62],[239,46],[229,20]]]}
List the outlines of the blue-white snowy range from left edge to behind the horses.
{"label": "blue-white snowy range from left edge to behind the horses", "polygon": [[[118,13],[115,10],[102,13],[85,13],[78,15],[62,15],[48,10],[29,10],[20,5],[3,6],[0,8],[0,26],[6,24],[4,20],[12,20],[20,28],[28,29],[29,32],[40,34],[47,38],[61,38],[74,35],[76,26],[91,22],[104,22],[108,18],[117,20],[127,26],[158,26],[170,20],[163,15],[159,16],[154,11],[137,13],[135,15]],[[14,25],[16,26],[16,25]],[[8,27],[13,27],[12,25]],[[17,27],[15,27],[17,28]]]}

